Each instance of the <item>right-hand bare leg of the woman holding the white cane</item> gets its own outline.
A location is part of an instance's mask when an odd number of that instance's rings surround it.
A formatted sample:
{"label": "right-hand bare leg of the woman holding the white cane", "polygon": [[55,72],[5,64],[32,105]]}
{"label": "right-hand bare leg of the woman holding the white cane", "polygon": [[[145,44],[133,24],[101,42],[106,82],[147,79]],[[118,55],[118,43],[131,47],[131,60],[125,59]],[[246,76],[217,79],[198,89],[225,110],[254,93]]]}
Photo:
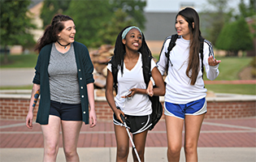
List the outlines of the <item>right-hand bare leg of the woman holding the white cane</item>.
{"label": "right-hand bare leg of the woman holding the white cane", "polygon": [[[136,150],[140,156],[141,161],[144,161],[144,153],[145,153],[145,139],[148,134],[148,130],[141,132],[140,134],[133,135],[133,142],[136,147]],[[135,151],[132,150],[133,161],[138,161]]]}

